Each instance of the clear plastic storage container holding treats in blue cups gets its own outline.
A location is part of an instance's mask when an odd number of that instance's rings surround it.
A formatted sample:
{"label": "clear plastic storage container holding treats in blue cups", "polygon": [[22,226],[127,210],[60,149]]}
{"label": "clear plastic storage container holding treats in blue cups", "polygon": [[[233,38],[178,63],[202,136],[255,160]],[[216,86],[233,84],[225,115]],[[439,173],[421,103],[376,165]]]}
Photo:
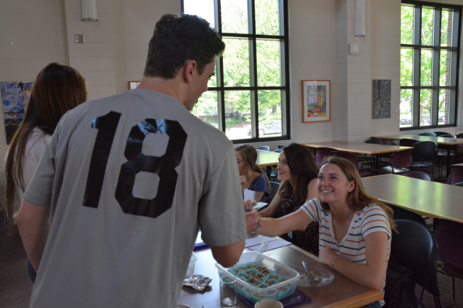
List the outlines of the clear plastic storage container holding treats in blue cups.
{"label": "clear plastic storage container holding treats in blue cups", "polygon": [[276,289],[278,292],[278,300],[286,298],[290,295],[294,294],[296,290],[296,282],[299,278],[299,273],[296,272],[294,269],[289,268],[286,265],[281,264],[278,261],[275,261],[267,256],[264,256],[257,252],[245,252],[241,255],[240,260],[237,264],[231,267],[223,267],[219,263],[216,262],[216,267],[219,271],[219,276],[222,277],[224,275],[232,276],[239,278],[237,279],[237,292],[247,300],[251,301],[252,303],[256,303],[258,301],[257,293],[262,290],[259,286],[254,286],[252,284],[243,281],[240,277],[228,272],[229,269],[237,267],[240,264],[245,264],[249,262],[257,262],[262,264],[265,268],[269,269],[270,271],[275,272],[277,275],[280,275],[286,279],[284,282],[280,282],[278,284],[274,284],[271,286],[267,286],[266,289],[272,290]]}

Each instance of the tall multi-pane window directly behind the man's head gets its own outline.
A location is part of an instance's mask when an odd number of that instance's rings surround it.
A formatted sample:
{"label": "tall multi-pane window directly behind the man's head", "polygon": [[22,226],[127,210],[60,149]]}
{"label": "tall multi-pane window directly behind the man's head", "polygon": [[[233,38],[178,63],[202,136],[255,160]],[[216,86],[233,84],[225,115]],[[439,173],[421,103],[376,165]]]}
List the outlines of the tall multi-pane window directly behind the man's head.
{"label": "tall multi-pane window directly behind the man's head", "polygon": [[287,140],[287,0],[183,0],[225,42],[208,91],[191,111],[234,143]]}

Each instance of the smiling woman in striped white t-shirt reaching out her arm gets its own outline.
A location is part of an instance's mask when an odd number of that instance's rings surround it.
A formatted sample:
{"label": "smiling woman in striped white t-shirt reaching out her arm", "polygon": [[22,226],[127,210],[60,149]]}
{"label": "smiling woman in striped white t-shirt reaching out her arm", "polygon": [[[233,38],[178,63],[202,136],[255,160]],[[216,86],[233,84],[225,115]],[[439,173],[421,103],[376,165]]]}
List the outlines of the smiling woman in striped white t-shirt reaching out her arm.
{"label": "smiling woman in striped white t-shirt reaching out her arm", "polygon": [[[368,196],[357,168],[349,161],[327,157],[318,174],[318,198],[279,219],[261,219],[257,232],[277,236],[318,221],[319,260],[349,279],[384,290],[393,211]],[[323,232],[322,232],[323,229]],[[384,301],[370,304],[380,307]]]}

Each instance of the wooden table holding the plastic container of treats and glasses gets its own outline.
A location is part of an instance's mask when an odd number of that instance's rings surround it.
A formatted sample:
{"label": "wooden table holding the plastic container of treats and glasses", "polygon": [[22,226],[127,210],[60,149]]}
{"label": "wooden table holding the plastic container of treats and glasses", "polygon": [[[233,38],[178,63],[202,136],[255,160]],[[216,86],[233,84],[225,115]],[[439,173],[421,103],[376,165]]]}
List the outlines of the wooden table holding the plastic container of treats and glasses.
{"label": "wooden table holding the plastic container of treats and glasses", "polygon": [[[212,278],[211,288],[208,291],[198,292],[190,287],[182,287],[179,303],[188,304],[194,308],[220,307],[220,287],[219,273],[212,258],[210,249],[194,252],[198,260],[194,266],[194,274],[200,274]],[[302,249],[290,245],[272,251],[265,252],[264,255],[271,257],[285,265],[290,263],[301,264],[306,261],[309,266],[326,267],[317,261],[317,257],[310,255]],[[334,274],[331,284],[323,287],[300,287],[297,288],[312,299],[311,302],[298,305],[297,307],[330,307],[330,308],[356,308],[382,298],[380,290],[371,290],[365,286],[353,282],[345,276],[330,269]],[[238,299],[234,307],[247,307],[246,304]]]}

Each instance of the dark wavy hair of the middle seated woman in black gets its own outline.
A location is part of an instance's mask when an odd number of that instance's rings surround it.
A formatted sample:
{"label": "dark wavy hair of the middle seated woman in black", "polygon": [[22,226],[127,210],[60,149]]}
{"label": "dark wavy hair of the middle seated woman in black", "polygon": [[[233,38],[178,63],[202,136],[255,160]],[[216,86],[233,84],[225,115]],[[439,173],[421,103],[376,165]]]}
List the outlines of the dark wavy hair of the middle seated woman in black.
{"label": "dark wavy hair of the middle seated woman in black", "polygon": [[[281,186],[281,196],[294,194],[295,200],[306,201],[307,187],[310,181],[318,177],[318,167],[309,149],[298,143],[283,147],[286,162],[291,170],[291,183],[286,181]],[[294,188],[293,188],[294,185]]]}

